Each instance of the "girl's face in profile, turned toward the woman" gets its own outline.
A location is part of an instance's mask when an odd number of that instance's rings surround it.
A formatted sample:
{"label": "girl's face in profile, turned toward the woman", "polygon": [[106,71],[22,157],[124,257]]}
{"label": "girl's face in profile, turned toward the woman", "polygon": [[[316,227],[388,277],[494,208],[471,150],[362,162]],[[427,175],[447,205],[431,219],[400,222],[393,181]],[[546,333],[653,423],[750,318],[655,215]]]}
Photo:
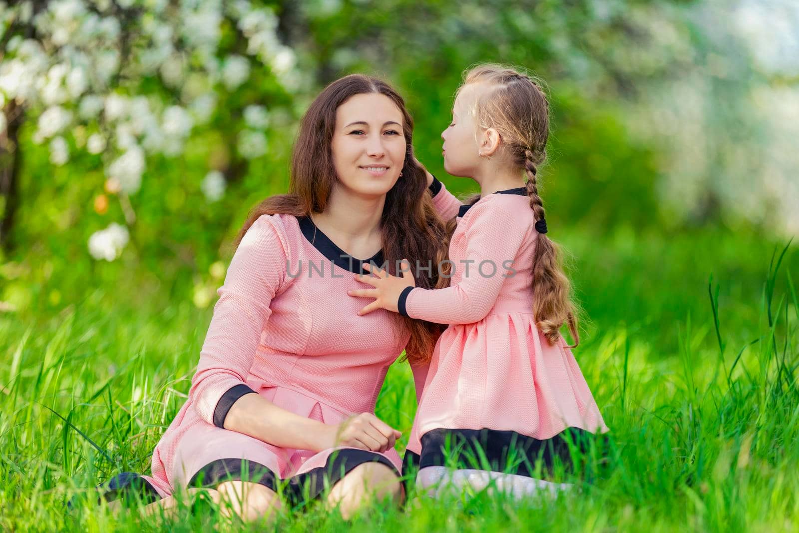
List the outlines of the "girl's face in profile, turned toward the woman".
{"label": "girl's face in profile, turned toward the woman", "polygon": [[478,127],[471,112],[480,88],[463,86],[452,105],[452,123],[443,130],[444,169],[452,176],[473,177],[482,157],[478,155]]}

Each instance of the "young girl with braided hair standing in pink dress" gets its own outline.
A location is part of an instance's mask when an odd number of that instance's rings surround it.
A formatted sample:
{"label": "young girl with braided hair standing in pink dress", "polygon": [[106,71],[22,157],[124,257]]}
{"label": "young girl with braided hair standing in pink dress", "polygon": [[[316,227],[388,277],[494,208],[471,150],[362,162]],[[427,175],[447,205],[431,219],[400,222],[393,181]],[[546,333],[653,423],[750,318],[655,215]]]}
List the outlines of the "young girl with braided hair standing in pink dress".
{"label": "young girl with braided hair standing in pink dress", "polygon": [[[577,318],[536,185],[549,135],[547,97],[524,74],[478,66],[467,72],[452,114],[441,135],[444,168],[477,181],[481,194],[461,205],[428,177],[439,213],[455,219],[451,262],[439,265],[450,271],[450,286],[415,288],[407,262],[403,277],[364,265],[371,274],[355,277],[374,288],[348,294],[375,299],[359,315],[384,308],[450,324],[432,353],[407,445],[419,462],[418,486],[442,479],[454,455],[476,467],[456,471],[457,484],[484,487],[493,479],[515,495],[556,490],[532,479],[536,460],[545,472],[556,457],[568,463],[570,443],[584,446],[607,428],[570,351]],[[561,336],[562,324],[574,345]],[[501,473],[509,470],[515,475]]]}

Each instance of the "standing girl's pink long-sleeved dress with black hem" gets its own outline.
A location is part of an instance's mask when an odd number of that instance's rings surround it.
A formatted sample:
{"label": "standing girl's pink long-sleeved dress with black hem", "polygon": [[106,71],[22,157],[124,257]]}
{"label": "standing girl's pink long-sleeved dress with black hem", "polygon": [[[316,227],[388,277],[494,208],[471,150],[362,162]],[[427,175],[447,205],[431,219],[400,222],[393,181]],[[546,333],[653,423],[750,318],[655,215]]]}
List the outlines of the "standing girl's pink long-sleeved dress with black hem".
{"label": "standing girl's pink long-sleeved dress with black hem", "polygon": [[566,341],[549,344],[535,325],[531,268],[539,233],[526,189],[472,205],[461,205],[438,180],[431,190],[439,213],[458,219],[451,286],[407,288],[398,307],[451,325],[435,345],[407,462],[443,465],[443,447],[459,443],[461,455],[485,454],[477,467],[503,470],[515,447],[529,459],[517,473],[530,475],[536,457],[551,465],[566,455],[568,438],[607,428]]}

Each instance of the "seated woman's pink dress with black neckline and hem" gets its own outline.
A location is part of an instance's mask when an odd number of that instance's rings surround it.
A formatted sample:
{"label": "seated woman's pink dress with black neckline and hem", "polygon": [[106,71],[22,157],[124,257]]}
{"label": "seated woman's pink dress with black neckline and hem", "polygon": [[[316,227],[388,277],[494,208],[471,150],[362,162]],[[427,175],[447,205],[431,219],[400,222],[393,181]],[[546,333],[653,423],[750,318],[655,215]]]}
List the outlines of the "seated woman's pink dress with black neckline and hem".
{"label": "seated woman's pink dress with black neckline and hem", "polygon": [[[201,476],[203,483],[225,474],[252,478],[257,467],[260,483],[274,488],[290,479],[288,488],[299,491],[300,481],[308,482],[313,497],[324,487],[323,474],[335,483],[364,461],[399,471],[394,449],[317,453],[272,446],[223,428],[233,403],[252,392],[326,424],[374,412],[388,367],[410,334],[392,312],[357,316],[369,300],[347,291],[364,287],[352,272],[365,273],[360,265],[369,261],[382,265],[382,253],[354,259],[308,217],[258,218],[218,289],[189,399],[153,451],[152,474],[133,475],[138,486],[162,497]],[[124,488],[130,477],[114,479],[110,486]]]}

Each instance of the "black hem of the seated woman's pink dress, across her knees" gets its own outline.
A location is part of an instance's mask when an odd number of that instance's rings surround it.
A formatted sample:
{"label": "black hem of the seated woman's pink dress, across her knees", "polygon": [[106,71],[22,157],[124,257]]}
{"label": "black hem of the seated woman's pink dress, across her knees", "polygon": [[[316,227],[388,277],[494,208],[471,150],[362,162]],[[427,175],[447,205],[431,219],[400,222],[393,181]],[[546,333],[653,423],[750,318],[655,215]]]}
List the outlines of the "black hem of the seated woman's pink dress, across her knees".
{"label": "black hem of the seated woman's pink dress, across her knees", "polygon": [[374,451],[344,449],[333,451],[323,467],[312,468],[288,479],[278,478],[263,464],[247,459],[216,459],[202,467],[189,480],[189,487],[215,488],[230,480],[258,483],[282,494],[293,506],[318,498],[326,487],[332,487],[355,467],[363,463],[382,463],[400,478],[400,472],[384,455]]}

